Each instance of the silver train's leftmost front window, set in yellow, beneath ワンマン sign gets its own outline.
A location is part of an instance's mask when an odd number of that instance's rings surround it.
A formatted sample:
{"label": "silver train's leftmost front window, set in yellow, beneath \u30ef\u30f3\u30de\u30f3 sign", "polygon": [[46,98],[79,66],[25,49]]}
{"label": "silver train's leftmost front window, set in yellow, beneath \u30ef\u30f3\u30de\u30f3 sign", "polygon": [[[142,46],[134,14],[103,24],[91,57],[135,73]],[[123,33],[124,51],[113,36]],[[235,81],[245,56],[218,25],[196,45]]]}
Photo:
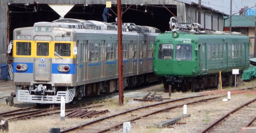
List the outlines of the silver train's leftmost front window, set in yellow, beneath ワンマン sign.
{"label": "silver train's leftmost front window, set in yellow, beneath \u30ef\u30f3\u30de\u30f3 sign", "polygon": [[31,43],[30,42],[17,42],[16,43],[16,55],[30,56],[31,55]]}

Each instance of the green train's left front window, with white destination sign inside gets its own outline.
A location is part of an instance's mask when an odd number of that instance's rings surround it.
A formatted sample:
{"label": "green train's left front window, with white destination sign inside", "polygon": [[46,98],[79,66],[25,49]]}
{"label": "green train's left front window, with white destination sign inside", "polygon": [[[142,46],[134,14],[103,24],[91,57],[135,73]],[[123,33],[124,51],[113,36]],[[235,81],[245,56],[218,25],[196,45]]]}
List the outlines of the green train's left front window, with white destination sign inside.
{"label": "green train's left front window, with white destination sign inside", "polygon": [[160,44],[158,59],[173,59],[173,44]]}

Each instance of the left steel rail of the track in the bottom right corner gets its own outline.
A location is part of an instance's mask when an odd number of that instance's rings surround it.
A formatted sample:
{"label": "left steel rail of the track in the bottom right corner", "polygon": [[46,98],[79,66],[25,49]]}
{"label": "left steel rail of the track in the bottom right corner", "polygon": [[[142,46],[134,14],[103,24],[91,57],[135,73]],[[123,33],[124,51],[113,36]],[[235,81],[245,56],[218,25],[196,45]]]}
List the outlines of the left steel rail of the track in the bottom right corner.
{"label": "left steel rail of the track in the bottom right corner", "polygon": [[208,131],[210,131],[214,126],[216,126],[217,124],[219,124],[222,120],[224,120],[226,117],[228,117],[231,113],[234,113],[236,112],[237,110],[239,110],[240,108],[243,108],[244,106],[247,106],[248,104],[250,104],[251,102],[254,102],[256,101],[256,98],[249,101],[249,102],[246,102],[245,104],[242,104],[241,106],[235,108],[234,110],[226,113],[225,115],[223,115],[221,118],[215,120],[213,123],[211,123],[209,126],[207,126],[206,128],[204,128],[202,131],[200,131],[200,133],[206,133]]}

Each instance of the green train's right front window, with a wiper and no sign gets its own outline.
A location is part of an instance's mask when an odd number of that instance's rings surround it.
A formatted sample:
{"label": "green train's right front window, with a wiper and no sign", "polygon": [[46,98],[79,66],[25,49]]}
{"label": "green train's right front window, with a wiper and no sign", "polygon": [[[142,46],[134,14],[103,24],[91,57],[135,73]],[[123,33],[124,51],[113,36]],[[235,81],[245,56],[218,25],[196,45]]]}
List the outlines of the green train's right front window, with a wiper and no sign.
{"label": "green train's right front window, with a wiper and no sign", "polygon": [[192,45],[189,44],[177,44],[175,58],[180,60],[192,59]]}

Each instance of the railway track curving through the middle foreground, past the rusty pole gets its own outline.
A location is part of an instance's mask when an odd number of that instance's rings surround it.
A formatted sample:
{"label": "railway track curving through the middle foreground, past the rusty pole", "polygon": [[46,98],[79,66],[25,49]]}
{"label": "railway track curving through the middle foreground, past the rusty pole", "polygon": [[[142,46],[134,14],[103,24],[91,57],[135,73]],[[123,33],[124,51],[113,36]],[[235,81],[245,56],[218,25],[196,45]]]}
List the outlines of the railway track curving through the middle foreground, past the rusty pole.
{"label": "railway track curving through the middle foreground, past the rusty pole", "polygon": [[[242,92],[239,92],[242,93]],[[206,95],[202,95],[202,96],[206,96]],[[219,97],[223,97],[223,96],[219,96]],[[186,98],[182,98],[182,99],[176,99],[176,100],[171,100],[171,101],[165,101],[162,103],[157,103],[157,104],[151,104],[148,106],[143,106],[140,108],[135,108],[132,110],[128,110],[128,111],[124,111],[115,115],[111,115],[111,116],[107,116],[107,117],[103,117],[91,122],[87,122],[83,125],[80,126],[76,126],[73,128],[69,128],[69,129],[63,129],[61,131],[61,133],[65,133],[65,132],[69,132],[69,131],[74,131],[76,129],[79,129],[79,131],[81,132],[105,132],[108,131],[111,128],[115,128],[117,126],[122,125],[123,122],[127,122],[127,121],[133,121],[133,120],[137,120],[140,119],[141,117],[147,117],[148,115],[152,115],[155,113],[160,113],[164,110],[170,110],[173,108],[177,108],[180,106],[183,106],[184,104],[193,104],[193,103],[197,103],[197,102],[202,102],[202,101],[207,101],[207,100],[211,100],[211,99],[216,99],[219,97],[210,97],[210,98],[206,98],[206,99],[200,99],[198,96],[195,97],[186,97]],[[191,102],[191,99],[193,99],[193,101]],[[175,102],[175,103],[174,103]],[[165,104],[163,106],[163,104]],[[166,108],[168,107],[168,108]],[[132,114],[137,114],[138,117],[131,117]],[[106,122],[108,122],[108,125],[106,125]],[[109,124],[109,122],[115,122],[114,124]],[[99,129],[99,128],[95,128],[95,127],[102,127],[102,125],[104,125],[104,127],[108,127],[106,129]],[[85,127],[82,128],[82,127]]]}

